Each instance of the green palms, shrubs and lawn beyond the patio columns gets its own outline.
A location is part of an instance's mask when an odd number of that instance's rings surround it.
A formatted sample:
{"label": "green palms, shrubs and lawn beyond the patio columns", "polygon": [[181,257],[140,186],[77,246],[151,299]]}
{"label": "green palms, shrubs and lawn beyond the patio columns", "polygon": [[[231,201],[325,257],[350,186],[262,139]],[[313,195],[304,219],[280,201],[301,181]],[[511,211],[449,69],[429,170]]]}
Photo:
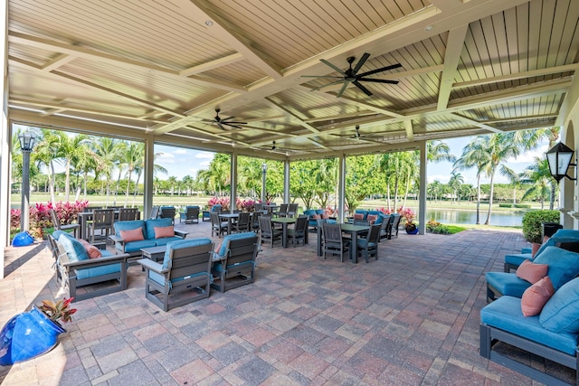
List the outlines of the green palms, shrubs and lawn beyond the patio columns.
{"label": "green palms, shrubs and lawn beyond the patio columns", "polygon": [[[13,136],[13,194],[18,202],[22,155],[18,133]],[[39,130],[39,143],[31,158],[31,203],[47,208],[57,202],[90,202],[103,206],[142,206],[144,146],[138,142],[110,137],[71,135],[63,131]],[[448,184],[433,181],[427,185],[429,206],[461,208],[477,212],[477,224],[491,224],[493,211],[525,211],[554,207],[556,188],[545,159],[536,159],[522,174],[508,167],[508,159],[535,148],[541,141],[555,143],[558,128],[527,130],[475,137],[461,155],[451,155],[442,141],[427,143],[428,162],[453,161],[455,170]],[[157,154],[157,156],[160,154]],[[244,202],[261,197],[261,165],[266,164],[266,199],[281,200],[283,165],[280,162],[238,157],[238,197]],[[63,170],[56,173],[56,170]],[[464,184],[461,171],[474,169],[478,184]],[[337,159],[297,161],[290,164],[289,193],[301,210],[324,208],[337,211]],[[495,184],[498,174],[510,184]],[[489,183],[482,184],[483,179]],[[183,206],[207,206],[212,198],[230,194],[230,155],[216,154],[208,168],[198,174],[177,179],[171,172],[154,166],[154,202]],[[348,213],[356,208],[402,212],[417,208],[419,153],[407,151],[346,158],[346,196]],[[62,203],[61,203],[62,205]],[[240,203],[238,202],[238,205]],[[33,219],[31,212],[31,219]],[[37,213],[36,213],[37,214]],[[347,214],[347,213],[346,213]],[[70,216],[69,216],[70,217]],[[14,216],[13,216],[14,218]],[[73,219],[72,219],[73,220]],[[435,224],[437,219],[431,219]],[[70,221],[68,217],[64,221]],[[14,221],[14,226],[16,221]]]}

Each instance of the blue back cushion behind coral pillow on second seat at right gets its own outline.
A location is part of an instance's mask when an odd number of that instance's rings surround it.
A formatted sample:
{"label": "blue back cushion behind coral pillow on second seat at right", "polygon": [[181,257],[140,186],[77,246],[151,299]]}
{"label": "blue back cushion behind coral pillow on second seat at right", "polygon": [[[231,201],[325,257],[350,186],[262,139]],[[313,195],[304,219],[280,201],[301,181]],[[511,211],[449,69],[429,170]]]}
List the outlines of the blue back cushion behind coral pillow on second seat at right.
{"label": "blue back cushion behind coral pillow on second seat at right", "polygon": [[579,275],[579,253],[566,249],[546,247],[533,262],[549,266],[547,275],[551,279],[555,291]]}

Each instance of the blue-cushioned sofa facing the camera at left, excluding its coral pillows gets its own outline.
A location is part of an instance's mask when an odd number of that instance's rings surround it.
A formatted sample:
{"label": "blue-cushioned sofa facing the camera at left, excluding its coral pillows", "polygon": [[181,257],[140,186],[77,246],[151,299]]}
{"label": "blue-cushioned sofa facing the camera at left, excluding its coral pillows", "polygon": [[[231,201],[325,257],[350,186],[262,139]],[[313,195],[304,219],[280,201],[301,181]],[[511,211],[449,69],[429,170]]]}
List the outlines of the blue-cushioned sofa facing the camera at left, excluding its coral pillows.
{"label": "blue-cushioned sofa facing the camera at left, excluding its coral pillows", "polygon": [[[115,242],[115,248],[121,253],[128,253],[131,257],[142,255],[142,248],[159,247],[166,245],[168,242],[183,240],[188,232],[175,230],[175,236],[155,238],[155,227],[168,227],[173,225],[173,219],[148,219],[135,221],[117,221],[113,224],[115,234],[109,236],[110,240]],[[120,231],[132,231],[141,228],[143,239],[137,241],[126,241],[120,237]]]}

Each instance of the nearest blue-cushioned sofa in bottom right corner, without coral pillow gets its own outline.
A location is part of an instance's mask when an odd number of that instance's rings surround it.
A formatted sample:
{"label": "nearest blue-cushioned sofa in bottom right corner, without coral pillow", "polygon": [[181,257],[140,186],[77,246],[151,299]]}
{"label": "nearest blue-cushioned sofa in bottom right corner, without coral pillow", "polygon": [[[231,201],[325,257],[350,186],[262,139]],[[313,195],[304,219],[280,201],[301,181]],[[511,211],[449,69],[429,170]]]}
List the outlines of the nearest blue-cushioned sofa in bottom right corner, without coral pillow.
{"label": "nearest blue-cushioned sofa in bottom right corner, without coral pillow", "polygon": [[[480,355],[548,385],[568,384],[538,369],[540,362],[518,362],[520,353],[495,350],[498,343],[510,344],[549,361],[575,370],[579,384],[577,340],[579,338],[579,278],[565,283],[551,297],[539,315],[524,316],[521,299],[500,297],[480,311]],[[556,372],[555,372],[556,373]]]}

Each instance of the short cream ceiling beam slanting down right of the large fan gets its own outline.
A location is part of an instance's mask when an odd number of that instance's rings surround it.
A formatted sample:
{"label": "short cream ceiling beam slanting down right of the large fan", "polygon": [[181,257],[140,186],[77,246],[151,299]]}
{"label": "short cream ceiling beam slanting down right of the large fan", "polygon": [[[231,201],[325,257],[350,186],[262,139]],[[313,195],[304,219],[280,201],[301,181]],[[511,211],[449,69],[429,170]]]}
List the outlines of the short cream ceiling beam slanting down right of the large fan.
{"label": "short cream ceiling beam slanting down right of the large fan", "polygon": [[452,82],[456,78],[457,69],[464,45],[464,38],[468,25],[451,30],[449,39],[446,42],[446,52],[444,54],[444,71],[442,71],[441,85],[438,94],[438,107],[442,110],[448,106],[451,99]]}

